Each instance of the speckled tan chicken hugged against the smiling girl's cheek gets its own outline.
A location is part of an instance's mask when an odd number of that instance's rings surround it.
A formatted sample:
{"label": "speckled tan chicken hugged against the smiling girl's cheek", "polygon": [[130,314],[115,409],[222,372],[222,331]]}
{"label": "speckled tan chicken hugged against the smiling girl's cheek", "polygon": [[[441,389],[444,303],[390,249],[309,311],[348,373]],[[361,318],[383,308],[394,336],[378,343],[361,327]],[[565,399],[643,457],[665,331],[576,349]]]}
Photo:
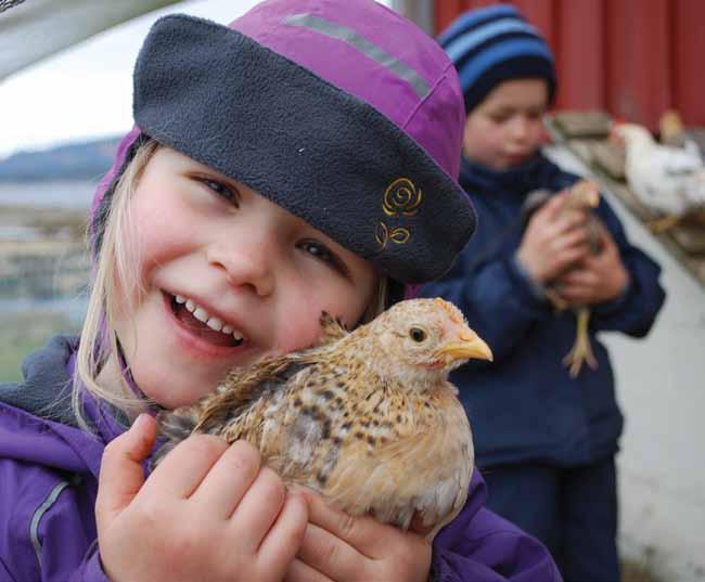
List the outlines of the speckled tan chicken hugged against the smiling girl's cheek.
{"label": "speckled tan chicken hugged against the smiling girl's cheek", "polygon": [[320,346],[234,370],[162,413],[157,457],[192,432],[246,439],[285,482],[402,529],[418,512],[435,533],[464,505],[474,460],[448,373],[489,348],[443,299],[399,302],[351,333],[325,313],[321,326]]}

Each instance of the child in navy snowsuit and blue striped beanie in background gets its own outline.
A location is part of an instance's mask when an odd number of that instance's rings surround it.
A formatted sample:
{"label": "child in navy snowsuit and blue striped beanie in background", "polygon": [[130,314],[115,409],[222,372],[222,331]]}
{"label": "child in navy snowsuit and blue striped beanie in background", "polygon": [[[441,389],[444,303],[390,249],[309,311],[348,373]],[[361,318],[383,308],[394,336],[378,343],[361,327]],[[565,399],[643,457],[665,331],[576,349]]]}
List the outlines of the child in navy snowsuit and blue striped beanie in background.
{"label": "child in navy snowsuit and blue striped beanie in background", "polygon": [[[578,179],[540,153],[556,79],[538,31],[502,3],[466,12],[439,40],[465,96],[460,183],[479,228],[451,272],[424,293],[454,301],[495,354],[492,364],[471,363],[451,376],[473,426],[488,505],[546,543],[566,580],[615,582],[614,458],[623,418],[595,334],[649,332],[664,301],[659,269],[629,244],[604,199],[597,256],[585,217],[561,212],[564,194],[524,224],[527,193],[557,193]],[[542,292],[556,279],[569,306],[591,306],[599,366],[575,379],[562,363],[575,316],[556,313]]]}

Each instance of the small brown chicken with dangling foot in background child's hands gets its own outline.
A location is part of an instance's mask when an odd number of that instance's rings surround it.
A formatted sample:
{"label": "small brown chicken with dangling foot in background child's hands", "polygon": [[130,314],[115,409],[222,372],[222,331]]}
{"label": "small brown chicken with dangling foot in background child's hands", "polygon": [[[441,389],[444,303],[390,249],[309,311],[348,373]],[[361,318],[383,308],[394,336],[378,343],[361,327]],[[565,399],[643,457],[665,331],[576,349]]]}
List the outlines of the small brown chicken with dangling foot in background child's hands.
{"label": "small brown chicken with dangling foot in background child's hands", "polygon": [[[528,221],[529,217],[538,210],[548,199],[553,195],[548,190],[536,190],[526,196],[524,203],[523,217]],[[590,251],[593,255],[599,255],[602,251],[602,234],[601,221],[598,216],[592,212],[600,204],[600,191],[594,182],[590,180],[578,180],[568,190],[568,199],[562,208],[562,212],[572,212],[575,210],[587,210],[588,219],[585,228],[588,232],[588,244]],[[572,269],[568,268],[568,269]],[[556,283],[549,283],[546,285],[546,296],[553,303],[557,311],[566,309],[567,305],[561,298],[560,288]],[[571,376],[576,377],[584,363],[588,363],[591,368],[598,367],[598,360],[592,352],[590,346],[590,335],[588,333],[588,325],[590,323],[590,309],[586,306],[574,307],[573,311],[576,316],[576,333],[575,344],[571,351],[563,359],[563,363],[568,367]]]}

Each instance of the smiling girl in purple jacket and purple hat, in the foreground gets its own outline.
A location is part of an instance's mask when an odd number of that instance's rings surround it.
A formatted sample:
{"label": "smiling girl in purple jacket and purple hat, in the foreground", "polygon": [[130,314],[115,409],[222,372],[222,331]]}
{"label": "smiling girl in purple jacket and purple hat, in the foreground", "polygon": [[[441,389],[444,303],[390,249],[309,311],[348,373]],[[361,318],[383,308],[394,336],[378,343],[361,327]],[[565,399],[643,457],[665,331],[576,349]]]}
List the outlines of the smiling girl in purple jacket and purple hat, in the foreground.
{"label": "smiling girl in purple jacket and purple hat, in the foreground", "polygon": [[557,580],[479,477],[432,547],[286,492],[244,442],[195,436],[143,469],[154,411],[449,268],[475,219],[445,53],[372,0],[272,0],[229,27],[158,21],[133,99],[80,340],[0,388],[0,579]]}

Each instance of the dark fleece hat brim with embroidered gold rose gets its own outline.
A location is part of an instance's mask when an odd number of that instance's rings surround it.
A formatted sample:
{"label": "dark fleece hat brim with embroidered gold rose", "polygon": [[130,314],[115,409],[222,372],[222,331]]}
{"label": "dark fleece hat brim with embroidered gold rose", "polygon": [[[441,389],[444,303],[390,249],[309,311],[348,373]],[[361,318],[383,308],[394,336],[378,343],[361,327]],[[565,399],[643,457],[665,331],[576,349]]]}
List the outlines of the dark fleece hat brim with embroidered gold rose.
{"label": "dark fleece hat brim with embroidered gold rose", "polygon": [[402,283],[443,275],[475,229],[465,193],[399,127],[216,23],[153,26],[134,69],[134,119]]}

